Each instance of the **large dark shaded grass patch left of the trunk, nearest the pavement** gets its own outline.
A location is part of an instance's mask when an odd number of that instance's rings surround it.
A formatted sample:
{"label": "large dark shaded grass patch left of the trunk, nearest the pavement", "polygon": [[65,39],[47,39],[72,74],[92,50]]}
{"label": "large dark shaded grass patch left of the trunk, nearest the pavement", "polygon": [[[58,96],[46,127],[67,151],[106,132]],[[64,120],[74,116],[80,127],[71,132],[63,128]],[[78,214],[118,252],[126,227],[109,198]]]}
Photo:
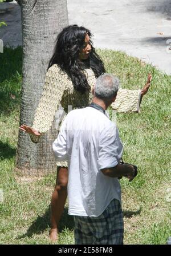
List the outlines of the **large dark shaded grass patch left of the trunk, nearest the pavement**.
{"label": "large dark shaded grass patch left of the trunk, nearest the pavement", "polygon": [[[1,54],[1,53],[0,53]],[[9,115],[20,104],[22,48],[4,48],[0,61],[0,113]]]}

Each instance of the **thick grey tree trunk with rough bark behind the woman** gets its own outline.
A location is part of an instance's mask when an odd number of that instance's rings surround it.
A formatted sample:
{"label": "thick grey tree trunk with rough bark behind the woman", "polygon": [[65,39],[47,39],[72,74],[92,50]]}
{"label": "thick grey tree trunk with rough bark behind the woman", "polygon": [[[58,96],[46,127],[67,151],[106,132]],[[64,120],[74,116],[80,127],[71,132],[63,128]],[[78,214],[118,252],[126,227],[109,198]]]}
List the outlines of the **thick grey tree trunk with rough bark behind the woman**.
{"label": "thick grey tree trunk with rough bark behind the woman", "polygon": [[[23,0],[21,10],[23,81],[20,125],[32,126],[56,36],[68,25],[67,0]],[[19,131],[15,171],[30,176],[56,172],[52,151],[56,132],[52,125],[39,143],[34,144],[28,133]]]}

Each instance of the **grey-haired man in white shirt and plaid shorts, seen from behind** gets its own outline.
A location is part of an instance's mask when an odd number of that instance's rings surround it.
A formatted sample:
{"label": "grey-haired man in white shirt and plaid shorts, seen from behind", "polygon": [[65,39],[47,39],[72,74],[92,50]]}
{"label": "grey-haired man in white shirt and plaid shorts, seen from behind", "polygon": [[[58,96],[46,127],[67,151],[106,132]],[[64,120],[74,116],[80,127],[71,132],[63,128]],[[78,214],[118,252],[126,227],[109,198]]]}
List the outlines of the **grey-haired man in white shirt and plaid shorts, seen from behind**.
{"label": "grey-haired man in white shirt and plaid shorts, seen from behind", "polygon": [[118,178],[131,181],[135,170],[120,164],[123,146],[105,113],[118,89],[117,77],[97,78],[91,105],[68,113],[53,144],[57,160],[68,160],[68,214],[74,215],[76,244],[123,244]]}

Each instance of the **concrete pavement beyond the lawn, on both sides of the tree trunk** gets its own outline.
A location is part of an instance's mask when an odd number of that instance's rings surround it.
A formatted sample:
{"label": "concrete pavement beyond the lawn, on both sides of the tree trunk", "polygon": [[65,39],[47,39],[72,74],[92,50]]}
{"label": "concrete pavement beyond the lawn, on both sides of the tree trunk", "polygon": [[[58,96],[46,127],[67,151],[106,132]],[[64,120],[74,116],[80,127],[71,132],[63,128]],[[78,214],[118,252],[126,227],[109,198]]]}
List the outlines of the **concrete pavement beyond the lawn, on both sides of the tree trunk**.
{"label": "concrete pavement beyond the lawn, on both sides of the tree trunk", "polygon": [[[171,74],[171,0],[68,0],[70,24],[93,33],[95,47],[122,50]],[[21,45],[21,14],[17,3],[1,14],[4,44]]]}

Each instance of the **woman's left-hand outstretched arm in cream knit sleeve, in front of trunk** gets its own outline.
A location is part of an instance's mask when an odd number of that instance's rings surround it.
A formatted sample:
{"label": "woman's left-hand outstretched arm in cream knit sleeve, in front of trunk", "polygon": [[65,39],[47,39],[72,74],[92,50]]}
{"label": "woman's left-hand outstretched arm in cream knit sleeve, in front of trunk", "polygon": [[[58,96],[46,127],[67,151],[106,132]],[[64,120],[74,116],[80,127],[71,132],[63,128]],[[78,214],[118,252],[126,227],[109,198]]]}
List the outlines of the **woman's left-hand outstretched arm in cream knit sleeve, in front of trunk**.
{"label": "woman's left-hand outstretched arm in cream knit sleeve, in front of trunk", "polygon": [[55,112],[58,109],[60,101],[66,87],[64,75],[61,74],[57,65],[51,66],[46,73],[43,93],[36,109],[32,127],[25,124],[19,129],[30,133],[32,142],[38,143],[39,137],[48,131],[54,120]]}

